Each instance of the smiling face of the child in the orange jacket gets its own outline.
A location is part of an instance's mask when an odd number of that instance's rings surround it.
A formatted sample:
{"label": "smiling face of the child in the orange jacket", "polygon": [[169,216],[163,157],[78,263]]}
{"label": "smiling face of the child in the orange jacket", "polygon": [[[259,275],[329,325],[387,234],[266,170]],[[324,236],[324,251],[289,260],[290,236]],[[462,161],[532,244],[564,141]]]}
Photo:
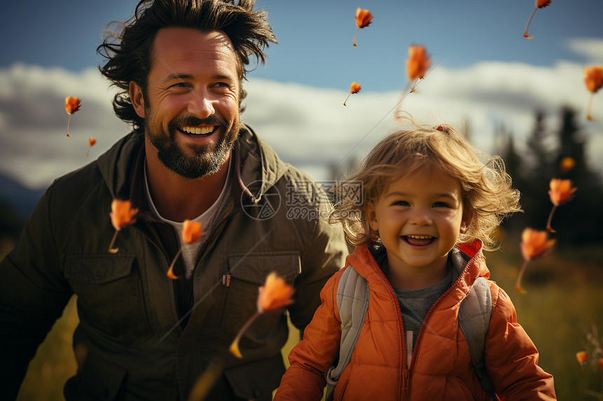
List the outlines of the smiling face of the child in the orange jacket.
{"label": "smiling face of the child in the orange jacket", "polygon": [[447,254],[470,221],[463,216],[461,183],[437,168],[393,178],[369,204],[368,216],[387,250],[389,269],[421,276],[445,271]]}

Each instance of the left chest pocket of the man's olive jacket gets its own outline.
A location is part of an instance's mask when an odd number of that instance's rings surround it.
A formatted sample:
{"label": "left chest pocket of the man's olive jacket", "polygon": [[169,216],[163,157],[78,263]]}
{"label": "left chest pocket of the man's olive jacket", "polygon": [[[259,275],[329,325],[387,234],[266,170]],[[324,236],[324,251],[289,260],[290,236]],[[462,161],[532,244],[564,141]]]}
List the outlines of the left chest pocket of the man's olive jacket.
{"label": "left chest pocket of the man's olive jacket", "polygon": [[69,255],[65,278],[84,327],[127,343],[151,336],[135,255]]}

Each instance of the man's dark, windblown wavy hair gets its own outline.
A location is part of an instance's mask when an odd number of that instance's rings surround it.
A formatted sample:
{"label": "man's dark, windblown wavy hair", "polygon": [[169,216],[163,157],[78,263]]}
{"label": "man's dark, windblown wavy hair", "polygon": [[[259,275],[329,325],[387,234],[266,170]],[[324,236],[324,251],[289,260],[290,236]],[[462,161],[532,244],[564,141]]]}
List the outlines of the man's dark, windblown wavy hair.
{"label": "man's dark, windblown wavy hair", "polygon": [[[133,17],[124,23],[107,25],[107,36],[97,52],[107,59],[100,72],[121,90],[115,95],[113,108],[116,115],[130,122],[135,131],[142,132],[144,119],[135,112],[128,92],[130,81],[147,94],[147,78],[154,62],[153,43],[157,32],[163,28],[191,28],[199,31],[224,31],[233,43],[237,57],[239,80],[239,110],[247,93],[243,90],[251,55],[264,64],[264,47],[277,43],[268,23],[268,13],[253,10],[255,0],[142,0]],[[111,31],[112,24],[117,29]]]}

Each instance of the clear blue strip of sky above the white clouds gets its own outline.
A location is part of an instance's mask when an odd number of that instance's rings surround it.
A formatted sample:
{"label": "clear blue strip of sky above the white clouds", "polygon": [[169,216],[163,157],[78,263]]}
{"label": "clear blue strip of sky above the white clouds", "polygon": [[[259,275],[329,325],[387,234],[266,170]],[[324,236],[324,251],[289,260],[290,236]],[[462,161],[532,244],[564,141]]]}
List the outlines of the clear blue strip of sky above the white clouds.
{"label": "clear blue strip of sky above the white clouds", "polygon": [[[25,62],[72,71],[96,66],[102,61],[95,49],[105,25],[125,20],[136,3],[10,1],[0,25],[0,66]],[[360,31],[359,47],[353,48],[357,6],[370,9],[374,21]],[[529,29],[531,41],[522,37],[534,8],[531,0],[258,0],[257,7],[269,11],[280,43],[268,49],[269,63],[252,76],[318,87],[345,88],[360,77],[367,90],[403,85],[410,43],[426,45],[434,62],[458,68],[480,60],[585,62],[569,50],[568,39],[603,38],[601,0],[557,0],[539,9]]]}

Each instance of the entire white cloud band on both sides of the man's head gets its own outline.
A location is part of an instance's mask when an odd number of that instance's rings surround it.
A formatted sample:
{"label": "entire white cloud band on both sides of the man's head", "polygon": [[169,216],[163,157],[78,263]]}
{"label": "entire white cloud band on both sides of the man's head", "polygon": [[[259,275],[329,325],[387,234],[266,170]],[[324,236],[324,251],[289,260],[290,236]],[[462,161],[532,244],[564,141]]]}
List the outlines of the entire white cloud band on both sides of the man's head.
{"label": "entire white cloud band on both sides of the man's head", "polygon": [[[577,122],[588,139],[591,163],[603,169],[603,99],[593,98],[594,122],[585,120],[588,92],[582,66],[481,62],[466,69],[435,68],[409,94],[402,106],[422,124],[470,123],[475,144],[492,151],[493,133],[503,124],[520,144],[534,125],[534,111],[547,113],[546,124],[556,129],[560,108],[578,111]],[[128,132],[111,108],[114,90],[96,69],[70,73],[62,69],[15,65],[0,69],[0,173],[31,187],[93,160]],[[346,168],[364,157],[379,139],[401,126],[393,120],[400,92],[353,94],[347,107],[346,90],[308,87],[251,78],[243,121],[275,148],[283,160],[316,179],[330,178],[328,166]],[[346,88],[347,89],[347,88]],[[83,99],[72,115],[65,137],[65,96]],[[555,134],[555,132],[551,132]],[[86,157],[88,137],[97,145]]]}

